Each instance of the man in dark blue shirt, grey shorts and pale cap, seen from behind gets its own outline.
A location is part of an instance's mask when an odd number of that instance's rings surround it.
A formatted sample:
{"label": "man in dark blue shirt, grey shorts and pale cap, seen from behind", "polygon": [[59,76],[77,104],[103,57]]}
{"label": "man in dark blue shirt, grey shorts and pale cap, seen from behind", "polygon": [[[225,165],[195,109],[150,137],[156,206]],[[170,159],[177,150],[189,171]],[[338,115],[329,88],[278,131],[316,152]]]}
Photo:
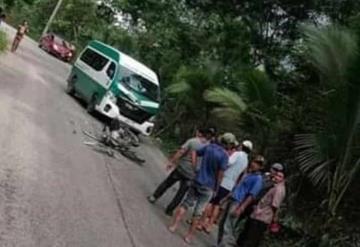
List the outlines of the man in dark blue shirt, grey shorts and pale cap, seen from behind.
{"label": "man in dark blue shirt, grey shorts and pale cap, seen from behind", "polygon": [[219,138],[219,143],[211,143],[197,151],[197,155],[202,157],[200,169],[169,226],[169,231],[175,232],[187,209],[194,207],[192,224],[184,238],[187,243],[191,242],[206,205],[220,186],[229,162],[227,150],[232,147],[235,140],[233,134],[227,133]]}

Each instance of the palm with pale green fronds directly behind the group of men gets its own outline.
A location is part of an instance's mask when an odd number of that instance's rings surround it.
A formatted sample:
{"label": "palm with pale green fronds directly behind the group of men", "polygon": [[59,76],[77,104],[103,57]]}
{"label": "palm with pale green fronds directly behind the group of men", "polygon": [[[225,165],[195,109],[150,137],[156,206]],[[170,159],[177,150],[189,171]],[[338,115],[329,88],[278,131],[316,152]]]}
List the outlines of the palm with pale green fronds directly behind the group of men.
{"label": "palm with pale green fronds directly behind the group of men", "polygon": [[256,69],[244,71],[239,79],[232,90],[208,90],[205,99],[219,106],[213,111],[218,118],[232,123],[242,136],[251,137],[264,153],[279,129],[275,83]]}

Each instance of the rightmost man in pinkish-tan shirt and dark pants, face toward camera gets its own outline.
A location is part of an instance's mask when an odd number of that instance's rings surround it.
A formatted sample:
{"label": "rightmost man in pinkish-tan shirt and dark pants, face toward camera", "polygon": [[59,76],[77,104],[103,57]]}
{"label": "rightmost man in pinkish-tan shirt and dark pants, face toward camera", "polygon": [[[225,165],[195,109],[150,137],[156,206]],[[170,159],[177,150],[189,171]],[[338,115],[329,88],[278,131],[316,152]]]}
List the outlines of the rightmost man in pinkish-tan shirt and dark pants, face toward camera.
{"label": "rightmost man in pinkish-tan shirt and dark pants, face toward camera", "polygon": [[269,225],[278,223],[278,210],[286,194],[284,171],[276,171],[272,180],[274,187],[259,201],[246,222],[240,239],[242,247],[258,247]]}

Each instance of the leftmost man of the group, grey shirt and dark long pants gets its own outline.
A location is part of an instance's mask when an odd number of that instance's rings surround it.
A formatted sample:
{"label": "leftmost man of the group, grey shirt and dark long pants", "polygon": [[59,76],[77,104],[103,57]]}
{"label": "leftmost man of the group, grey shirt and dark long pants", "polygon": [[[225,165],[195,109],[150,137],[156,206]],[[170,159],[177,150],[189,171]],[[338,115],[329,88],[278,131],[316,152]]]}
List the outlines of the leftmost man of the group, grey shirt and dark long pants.
{"label": "leftmost man of the group, grey shirt and dark long pants", "polygon": [[[197,168],[196,150],[207,144],[207,139],[214,133],[205,129],[196,131],[196,136],[187,140],[175,155],[169,160],[167,170],[173,170],[169,176],[157,187],[155,192],[148,197],[150,203],[155,203],[171,186],[180,182],[179,190],[173,200],[166,207],[165,213],[172,216],[174,209],[180,204],[188,191]],[[209,136],[210,135],[210,136]]]}

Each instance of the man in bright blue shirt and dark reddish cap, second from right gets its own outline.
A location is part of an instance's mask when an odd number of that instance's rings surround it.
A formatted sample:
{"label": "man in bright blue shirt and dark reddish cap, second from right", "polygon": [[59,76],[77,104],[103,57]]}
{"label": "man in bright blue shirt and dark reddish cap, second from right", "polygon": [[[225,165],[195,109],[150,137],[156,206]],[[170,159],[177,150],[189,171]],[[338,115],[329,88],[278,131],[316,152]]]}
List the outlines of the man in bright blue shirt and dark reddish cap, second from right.
{"label": "man in bright blue shirt and dark reddish cap, second from right", "polygon": [[238,221],[262,189],[261,170],[264,162],[264,157],[256,156],[250,163],[248,173],[234,188],[219,225],[218,246],[236,246]]}

